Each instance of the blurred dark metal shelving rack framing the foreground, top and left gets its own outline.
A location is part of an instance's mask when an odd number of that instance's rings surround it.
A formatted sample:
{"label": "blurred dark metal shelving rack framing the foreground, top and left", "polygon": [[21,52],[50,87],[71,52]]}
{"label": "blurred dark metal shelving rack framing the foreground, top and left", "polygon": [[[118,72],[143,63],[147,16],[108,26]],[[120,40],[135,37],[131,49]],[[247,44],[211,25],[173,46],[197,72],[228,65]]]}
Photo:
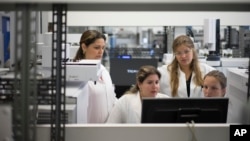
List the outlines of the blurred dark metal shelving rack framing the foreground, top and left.
{"label": "blurred dark metal shelving rack framing the foreground, top and left", "polygon": [[[6,101],[12,101],[14,96],[19,96],[14,102],[13,109],[16,114],[14,119],[13,132],[14,139],[17,141],[35,140],[35,113],[30,112],[30,106],[34,109],[37,105],[37,98],[41,101],[49,101],[51,103],[51,140],[64,141],[65,140],[65,74],[66,69],[62,65],[62,53],[65,53],[66,43],[66,18],[67,11],[247,11],[250,9],[250,2],[247,0],[239,0],[229,3],[217,0],[213,1],[184,1],[184,0],[169,0],[169,1],[88,1],[88,0],[70,0],[66,4],[61,3],[60,0],[1,0],[0,11],[15,11],[17,16],[16,25],[16,43],[17,49],[20,49],[22,54],[22,67],[16,68],[15,78],[13,80],[0,79],[0,96],[5,94]],[[29,43],[31,36],[35,31],[32,28],[34,25],[33,11],[46,11],[53,10],[53,59],[52,59],[52,78],[48,80],[30,79],[34,75],[35,78],[36,68],[34,72],[28,69],[29,50],[33,45]],[[18,12],[19,11],[19,12]],[[21,26],[20,26],[21,25]],[[20,27],[20,28],[19,28]],[[16,54],[17,55],[17,54]],[[19,58],[20,59],[20,58]],[[30,75],[32,74],[32,75]],[[19,78],[18,75],[21,77]],[[32,77],[31,77],[32,78]],[[10,95],[6,96],[6,93]],[[38,90],[39,89],[39,90]],[[46,90],[52,91],[52,97],[46,97]],[[25,93],[25,94],[23,94]],[[43,95],[40,95],[42,94]],[[20,95],[19,95],[20,94]],[[2,97],[1,97],[2,98]],[[0,102],[2,99],[0,98]],[[46,99],[47,98],[47,99]],[[15,98],[14,98],[15,99]],[[39,101],[39,100],[38,100]],[[17,110],[19,109],[19,111]],[[34,115],[32,115],[34,114]],[[29,130],[27,130],[29,129]]]}

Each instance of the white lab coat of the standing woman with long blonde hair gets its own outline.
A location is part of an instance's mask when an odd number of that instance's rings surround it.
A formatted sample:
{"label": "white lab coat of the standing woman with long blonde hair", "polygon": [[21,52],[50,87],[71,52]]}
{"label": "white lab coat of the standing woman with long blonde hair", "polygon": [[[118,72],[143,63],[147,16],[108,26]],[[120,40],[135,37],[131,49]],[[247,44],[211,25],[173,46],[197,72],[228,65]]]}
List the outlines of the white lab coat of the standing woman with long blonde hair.
{"label": "white lab coat of the standing woman with long blonde hair", "polygon": [[[215,68],[204,63],[200,63],[199,66],[200,66],[202,78],[208,72],[215,70]],[[161,73],[160,92],[172,97],[171,87],[170,87],[170,72],[167,70],[167,65],[163,65],[159,67],[158,70]],[[185,73],[181,71],[180,67],[178,68],[178,72],[180,74],[179,75],[179,88],[178,88],[178,95],[176,97],[188,97]],[[195,77],[195,73],[193,72],[191,82],[190,82],[190,97],[204,97],[201,86],[195,85],[194,77]]]}

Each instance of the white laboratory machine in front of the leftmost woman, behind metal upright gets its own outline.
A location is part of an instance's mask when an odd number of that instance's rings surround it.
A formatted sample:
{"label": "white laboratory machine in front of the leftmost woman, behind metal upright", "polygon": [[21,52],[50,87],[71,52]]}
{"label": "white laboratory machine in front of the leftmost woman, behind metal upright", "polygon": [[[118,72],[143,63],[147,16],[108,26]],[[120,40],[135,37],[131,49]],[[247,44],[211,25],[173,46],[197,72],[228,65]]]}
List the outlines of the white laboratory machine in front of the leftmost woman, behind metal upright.
{"label": "white laboratory machine in front of the leftmost woman, behind metal upright", "polygon": [[[98,79],[100,60],[81,60],[79,62],[66,62],[66,123],[86,123],[88,87],[87,81]],[[45,72],[45,70],[42,70]],[[38,106],[38,124],[50,123],[50,105]]]}

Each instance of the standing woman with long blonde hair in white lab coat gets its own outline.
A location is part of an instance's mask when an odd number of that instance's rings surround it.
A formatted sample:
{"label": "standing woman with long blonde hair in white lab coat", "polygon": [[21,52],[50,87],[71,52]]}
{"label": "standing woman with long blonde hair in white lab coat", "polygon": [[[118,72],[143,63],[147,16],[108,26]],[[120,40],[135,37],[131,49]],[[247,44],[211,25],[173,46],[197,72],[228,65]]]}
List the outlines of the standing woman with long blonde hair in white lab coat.
{"label": "standing woman with long blonde hair in white lab coat", "polygon": [[160,92],[170,97],[203,97],[203,77],[215,68],[199,62],[194,43],[186,35],[175,38],[172,48],[173,61],[159,67]]}

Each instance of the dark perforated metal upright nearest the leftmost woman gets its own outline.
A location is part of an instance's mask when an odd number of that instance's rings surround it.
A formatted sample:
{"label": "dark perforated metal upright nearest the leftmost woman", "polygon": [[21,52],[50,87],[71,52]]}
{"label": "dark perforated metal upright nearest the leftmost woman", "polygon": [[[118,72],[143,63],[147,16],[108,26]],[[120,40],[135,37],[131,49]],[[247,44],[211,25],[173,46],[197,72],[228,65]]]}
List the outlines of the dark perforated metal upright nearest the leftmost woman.
{"label": "dark perforated metal upright nearest the leftmost woman", "polygon": [[67,5],[53,5],[51,140],[65,140],[65,85]]}

